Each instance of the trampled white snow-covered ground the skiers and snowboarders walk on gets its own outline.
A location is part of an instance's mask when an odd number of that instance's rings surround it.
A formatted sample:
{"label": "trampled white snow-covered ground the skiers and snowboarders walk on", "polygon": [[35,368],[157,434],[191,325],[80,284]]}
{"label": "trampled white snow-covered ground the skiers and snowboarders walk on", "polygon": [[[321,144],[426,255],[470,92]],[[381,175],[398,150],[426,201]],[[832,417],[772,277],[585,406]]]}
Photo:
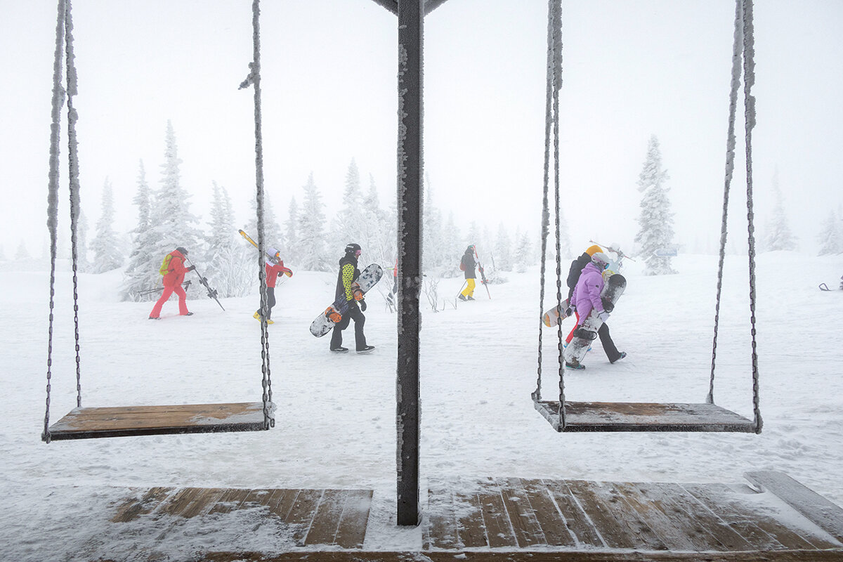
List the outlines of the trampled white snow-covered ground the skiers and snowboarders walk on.
{"label": "trampled white snow-covered ground the skiers and snowboarders walk on", "polygon": [[[752,417],[747,259],[729,256],[715,400]],[[716,256],[681,255],[679,275],[647,277],[627,262],[629,285],[609,319],[629,355],[609,365],[599,343],[583,372],[566,372],[572,400],[703,402],[711,365]],[[293,268],[295,266],[293,265]],[[567,270],[567,262],[564,265]],[[56,295],[51,421],[75,405],[67,263]],[[552,267],[550,271],[552,271]],[[843,505],[843,255],[778,252],[758,259],[758,350],[764,431],[753,434],[557,434],[533,409],[539,326],[538,268],[478,287],[477,302],[427,308],[421,331],[421,477],[459,483],[486,476],[743,482],[750,469],[781,470]],[[386,288],[382,281],[381,288]],[[190,301],[196,314],[147,319],[152,303],[118,302],[121,272],[81,276],[83,405],[260,401],[255,297]],[[271,431],[40,442],[44,423],[48,275],[0,263],[0,544],[8,560],[86,559],[90,524],[105,527],[99,554],[153,541],[107,522],[129,486],[371,488],[365,549],[418,549],[421,531],[395,527],[395,324],[377,289],[366,333],[373,354],[336,356],[308,326],[332,300],[336,274],[296,271],[279,289],[270,326]],[[440,297],[462,279],[444,279]],[[190,292],[197,294],[196,286]],[[189,292],[189,293],[190,293]],[[552,288],[546,297],[550,307]],[[453,298],[453,297],[452,297]],[[570,320],[563,329],[571,329]],[[543,394],[557,392],[556,332],[545,329]],[[352,330],[346,332],[346,345]],[[459,484],[457,484],[459,485]],[[111,527],[109,527],[109,525]],[[122,534],[121,534],[122,533]],[[137,533],[132,535],[132,533]],[[255,523],[185,531],[196,544],[271,545]],[[122,542],[121,542],[122,541]],[[275,545],[283,548],[283,545]],[[168,545],[158,544],[158,549]],[[90,555],[90,553],[89,553]]]}

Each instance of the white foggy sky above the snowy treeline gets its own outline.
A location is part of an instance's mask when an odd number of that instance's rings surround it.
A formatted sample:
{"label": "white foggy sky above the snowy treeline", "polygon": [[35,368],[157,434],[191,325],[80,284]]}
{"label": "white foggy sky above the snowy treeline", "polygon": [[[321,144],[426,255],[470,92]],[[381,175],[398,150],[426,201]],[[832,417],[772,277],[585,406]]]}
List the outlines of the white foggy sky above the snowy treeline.
{"label": "white foggy sky above the snowy treeline", "polygon": [[[101,190],[114,187],[115,230],[135,226],[138,163],[158,187],[171,120],[191,211],[207,222],[212,185],[249,220],[255,190],[250,3],[73,3],[79,163],[89,241]],[[426,204],[492,236],[540,235],[546,3],[444,3],[425,29]],[[572,251],[595,239],[629,250],[636,180],[658,137],[676,243],[714,252],[728,126],[733,2],[570,2],[563,7],[561,187]],[[56,5],[0,0],[0,245],[42,254]],[[798,249],[816,254],[820,224],[843,206],[843,4],[756,3],[756,236],[781,188]],[[331,220],[352,158],[381,205],[395,198],[395,16],[368,0],[264,3],[261,61],[266,190],[283,226],[312,172]],[[739,117],[742,115],[739,115]],[[66,128],[65,116],[62,126]],[[744,131],[738,130],[738,144]],[[67,144],[62,142],[67,158]],[[738,148],[731,236],[745,240]],[[62,166],[66,206],[67,167]],[[60,227],[67,231],[66,209]],[[741,234],[741,233],[744,234]],[[66,237],[67,238],[67,237]],[[581,248],[582,247],[582,248]]]}

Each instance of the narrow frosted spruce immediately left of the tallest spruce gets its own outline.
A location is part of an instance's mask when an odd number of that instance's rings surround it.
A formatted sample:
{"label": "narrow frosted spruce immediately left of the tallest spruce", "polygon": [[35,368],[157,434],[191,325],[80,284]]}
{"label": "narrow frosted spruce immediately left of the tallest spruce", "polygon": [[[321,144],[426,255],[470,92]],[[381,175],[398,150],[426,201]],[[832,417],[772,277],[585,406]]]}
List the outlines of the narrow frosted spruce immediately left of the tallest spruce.
{"label": "narrow frosted spruce immediately left of the tallest spruce", "polygon": [[129,265],[123,274],[121,300],[150,301],[157,300],[154,294],[138,295],[137,292],[152,289],[161,285],[158,268],[164,260],[159,255],[158,247],[162,233],[153,224],[154,195],[147,183],[147,171],[143,161],[139,163],[137,172],[137,191],[132,203],[137,206],[137,225],[132,229],[132,251],[129,254]]}

